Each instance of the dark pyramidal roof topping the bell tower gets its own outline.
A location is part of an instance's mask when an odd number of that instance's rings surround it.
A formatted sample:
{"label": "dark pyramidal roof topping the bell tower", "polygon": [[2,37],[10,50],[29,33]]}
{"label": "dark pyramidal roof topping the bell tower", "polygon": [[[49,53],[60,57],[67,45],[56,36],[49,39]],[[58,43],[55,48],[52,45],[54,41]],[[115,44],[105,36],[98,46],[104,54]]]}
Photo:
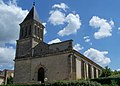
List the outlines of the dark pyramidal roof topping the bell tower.
{"label": "dark pyramidal roof topping the bell tower", "polygon": [[34,5],[33,5],[32,9],[30,10],[30,12],[28,13],[28,15],[26,16],[26,18],[24,19],[24,21],[30,20],[30,19],[34,19],[34,20],[36,20],[38,22],[41,22]]}

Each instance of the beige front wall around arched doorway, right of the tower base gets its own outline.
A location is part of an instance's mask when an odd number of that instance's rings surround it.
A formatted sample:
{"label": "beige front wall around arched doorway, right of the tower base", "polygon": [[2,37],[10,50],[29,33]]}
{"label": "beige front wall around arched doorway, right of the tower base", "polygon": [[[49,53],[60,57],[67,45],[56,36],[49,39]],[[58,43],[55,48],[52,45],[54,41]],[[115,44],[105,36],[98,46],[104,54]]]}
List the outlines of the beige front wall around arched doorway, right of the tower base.
{"label": "beige front wall around arched doorway, right of the tower base", "polygon": [[38,69],[43,67],[48,82],[69,79],[69,54],[53,55],[31,60],[31,80],[37,81]]}

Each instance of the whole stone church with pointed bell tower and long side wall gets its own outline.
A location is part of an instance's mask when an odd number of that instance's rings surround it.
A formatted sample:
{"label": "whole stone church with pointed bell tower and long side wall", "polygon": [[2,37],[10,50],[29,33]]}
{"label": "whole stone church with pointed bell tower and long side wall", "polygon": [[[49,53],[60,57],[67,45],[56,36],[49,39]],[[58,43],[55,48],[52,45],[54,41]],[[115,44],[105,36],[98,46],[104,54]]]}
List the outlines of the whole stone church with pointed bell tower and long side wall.
{"label": "whole stone church with pointed bell tower and long side wall", "polygon": [[14,83],[88,79],[101,74],[101,66],[73,49],[73,40],[45,43],[44,28],[33,6],[20,24]]}

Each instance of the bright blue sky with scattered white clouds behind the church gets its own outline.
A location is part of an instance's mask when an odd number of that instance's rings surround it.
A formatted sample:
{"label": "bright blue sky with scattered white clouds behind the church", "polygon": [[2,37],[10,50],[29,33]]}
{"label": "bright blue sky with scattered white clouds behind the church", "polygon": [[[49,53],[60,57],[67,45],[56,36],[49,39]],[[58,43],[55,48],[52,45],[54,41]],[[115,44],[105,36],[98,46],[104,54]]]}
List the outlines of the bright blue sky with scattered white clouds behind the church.
{"label": "bright blue sky with scattered white clouds behind the church", "polygon": [[78,52],[120,69],[120,0],[0,0],[0,70],[14,69],[19,24],[34,1],[46,43],[73,39]]}

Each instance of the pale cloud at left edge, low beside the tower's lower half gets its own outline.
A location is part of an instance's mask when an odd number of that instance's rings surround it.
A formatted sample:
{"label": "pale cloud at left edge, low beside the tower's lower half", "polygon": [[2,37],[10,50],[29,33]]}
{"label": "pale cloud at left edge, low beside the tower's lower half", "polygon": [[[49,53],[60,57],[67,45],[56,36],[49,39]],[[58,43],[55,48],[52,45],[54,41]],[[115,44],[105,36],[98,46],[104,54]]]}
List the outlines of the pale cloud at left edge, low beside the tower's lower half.
{"label": "pale cloud at left edge, low beside the tower's lower half", "polygon": [[13,67],[15,58],[15,49],[12,47],[0,47],[0,65],[1,67]]}

